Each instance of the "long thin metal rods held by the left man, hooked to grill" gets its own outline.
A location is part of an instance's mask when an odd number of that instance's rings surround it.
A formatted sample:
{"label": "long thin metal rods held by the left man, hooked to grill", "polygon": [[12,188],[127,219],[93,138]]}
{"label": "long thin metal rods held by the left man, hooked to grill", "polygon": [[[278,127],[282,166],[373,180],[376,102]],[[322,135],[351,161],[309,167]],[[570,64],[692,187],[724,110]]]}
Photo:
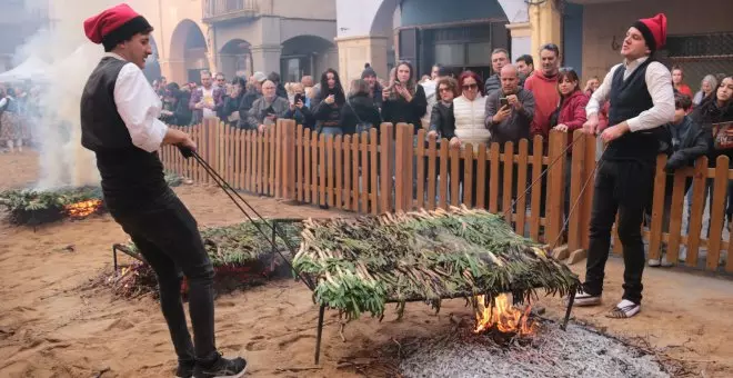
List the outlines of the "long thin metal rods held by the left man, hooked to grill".
{"label": "long thin metal rods held by the left man, hooked to grill", "polygon": [[[224,191],[224,193],[225,193],[225,195],[232,200],[232,202],[234,202],[234,205],[240,209],[240,211],[242,211],[242,213],[247,217],[247,219],[249,219],[249,220],[252,222],[252,225],[254,226],[254,228],[257,228],[257,230],[258,230],[260,233],[262,233],[262,237],[264,237],[264,239],[267,239],[267,240],[272,245],[272,249],[273,249],[275,252],[278,252],[278,255],[280,255],[280,257],[282,258],[282,260],[283,260],[283,261],[290,267],[290,269],[291,269],[294,273],[298,275],[298,278],[299,278],[303,284],[305,284],[305,286],[308,286],[308,288],[309,288],[311,291],[315,290],[315,285],[313,285],[313,281],[310,279],[310,277],[308,277],[308,276],[305,276],[305,275],[303,275],[303,273],[301,273],[301,272],[295,271],[295,269],[293,268],[292,263],[290,263],[290,261],[289,261],[289,260],[282,255],[282,252],[281,252],[280,249],[278,248],[277,240],[275,240],[274,238],[270,238],[270,237],[268,237],[268,235],[262,230],[262,228],[260,227],[260,225],[258,225],[258,222],[253,219],[253,217],[250,216],[250,213],[244,209],[244,207],[242,207],[242,205],[241,205],[237,199],[241,200],[242,203],[244,203],[244,206],[248,207],[248,208],[250,209],[250,211],[252,211],[252,212],[254,213],[254,216],[255,216],[257,218],[259,218],[259,220],[262,221],[262,223],[267,225],[267,226],[270,228],[270,230],[272,231],[272,235],[273,235],[273,236],[278,236],[278,237],[280,237],[280,239],[282,239],[282,241],[285,243],[285,247],[288,247],[288,249],[290,250],[290,253],[294,257],[295,253],[297,253],[295,248],[290,243],[290,241],[288,240],[288,238],[287,238],[285,236],[283,236],[282,232],[280,232],[280,231],[278,230],[277,225],[271,225],[271,223],[270,223],[264,217],[262,217],[262,216],[261,216],[261,215],[260,215],[260,213],[259,213],[259,212],[258,212],[258,211],[257,211],[257,210],[255,210],[255,209],[254,209],[254,208],[253,208],[253,207],[252,207],[252,206],[251,206],[251,205],[244,199],[244,198],[242,198],[242,196],[241,196],[241,195],[240,195],[234,188],[232,188],[231,185],[229,185],[229,182],[227,182],[227,180],[224,180],[224,178],[222,178],[222,177],[221,177],[221,176],[220,176],[220,175],[219,175],[219,173],[218,173],[218,172],[217,172],[217,171],[215,171],[215,170],[214,170],[214,169],[213,169],[213,168],[212,168],[212,167],[211,167],[211,166],[210,166],[210,165],[209,165],[209,163],[208,163],[208,162],[207,162],[207,161],[200,156],[200,155],[199,155],[199,152],[197,152],[197,151],[194,151],[194,150],[192,150],[192,149],[190,149],[190,148],[183,147],[183,146],[177,146],[177,147],[178,147],[179,151],[181,151],[181,155],[183,156],[183,158],[185,158],[185,159],[193,158],[193,159],[195,159],[195,161],[199,162],[199,165],[201,165],[201,167],[203,167],[203,169],[207,171],[207,173],[209,173],[209,176],[211,176],[211,178],[214,180],[214,182],[217,182],[217,185],[218,185],[218,186]],[[237,197],[237,198],[234,198],[234,197]]]}

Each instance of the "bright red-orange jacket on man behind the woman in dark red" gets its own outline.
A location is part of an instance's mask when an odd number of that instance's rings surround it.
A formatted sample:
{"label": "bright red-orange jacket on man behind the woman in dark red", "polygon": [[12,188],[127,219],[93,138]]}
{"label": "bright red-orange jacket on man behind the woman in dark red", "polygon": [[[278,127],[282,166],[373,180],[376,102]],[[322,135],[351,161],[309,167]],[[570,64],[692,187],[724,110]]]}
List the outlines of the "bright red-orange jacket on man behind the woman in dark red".
{"label": "bright red-orange jacket on man behind the woman in dark red", "polygon": [[542,136],[545,143],[550,136],[550,116],[558,109],[560,93],[558,93],[558,76],[546,78],[542,70],[538,70],[526,79],[524,89],[534,94],[534,119],[530,127],[530,136]]}

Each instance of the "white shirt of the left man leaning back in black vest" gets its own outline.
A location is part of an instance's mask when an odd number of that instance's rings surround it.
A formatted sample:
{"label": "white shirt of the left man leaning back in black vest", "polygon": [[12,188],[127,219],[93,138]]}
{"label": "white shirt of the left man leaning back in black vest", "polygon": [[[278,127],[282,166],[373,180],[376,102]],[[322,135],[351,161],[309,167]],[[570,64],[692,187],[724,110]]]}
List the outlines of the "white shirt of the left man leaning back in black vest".
{"label": "white shirt of the left man leaning back in black vest", "polygon": [[[124,60],[113,52],[104,56]],[[114,103],[130,132],[132,145],[148,152],[157,151],[165,138],[168,126],[158,119],[162,102],[137,64],[128,62],[120,70],[114,83]]]}

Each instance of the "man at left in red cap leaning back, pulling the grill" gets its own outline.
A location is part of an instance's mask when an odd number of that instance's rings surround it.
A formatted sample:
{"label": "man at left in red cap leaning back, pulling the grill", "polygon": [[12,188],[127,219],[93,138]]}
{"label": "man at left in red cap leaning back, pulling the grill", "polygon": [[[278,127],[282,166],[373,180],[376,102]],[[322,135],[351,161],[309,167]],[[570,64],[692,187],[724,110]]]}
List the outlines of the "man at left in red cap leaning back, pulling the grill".
{"label": "man at left in red cap leaning back, pulling the grill", "polygon": [[[161,101],[142,68],[153,28],[127,4],[84,21],[87,37],[104,46],[81,98],[81,143],[97,155],[104,202],[158,277],[160,305],[175,354],[178,377],[241,377],[247,362],[225,359],[214,344],[213,268],[185,206],[163,179],[162,145],[195,150],[191,138],[158,120]],[[193,341],[181,300],[189,284]]]}

